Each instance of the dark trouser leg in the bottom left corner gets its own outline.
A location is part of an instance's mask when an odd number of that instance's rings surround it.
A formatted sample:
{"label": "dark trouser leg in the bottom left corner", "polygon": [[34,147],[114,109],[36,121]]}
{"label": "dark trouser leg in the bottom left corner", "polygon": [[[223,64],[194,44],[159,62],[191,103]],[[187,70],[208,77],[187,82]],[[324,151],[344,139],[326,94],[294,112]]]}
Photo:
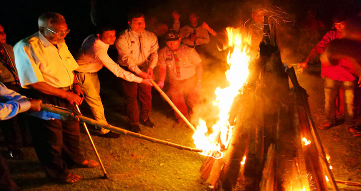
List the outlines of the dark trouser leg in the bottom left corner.
{"label": "dark trouser leg in the bottom left corner", "polygon": [[9,167],[2,155],[0,155],[0,191],[18,191],[17,184],[11,179]]}

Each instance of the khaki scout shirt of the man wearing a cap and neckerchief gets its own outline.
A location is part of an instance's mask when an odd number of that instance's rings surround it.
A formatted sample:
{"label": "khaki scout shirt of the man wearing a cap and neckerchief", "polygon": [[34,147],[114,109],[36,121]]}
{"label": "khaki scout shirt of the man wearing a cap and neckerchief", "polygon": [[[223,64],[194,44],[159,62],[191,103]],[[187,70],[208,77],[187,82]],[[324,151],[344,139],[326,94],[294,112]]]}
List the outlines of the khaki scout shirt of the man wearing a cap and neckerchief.
{"label": "khaki scout shirt of the man wearing a cap and neckerchief", "polygon": [[167,47],[159,50],[158,65],[166,65],[167,74],[170,79],[183,80],[188,79],[197,73],[197,65],[201,64],[202,59],[194,48],[186,45],[180,45],[176,51],[179,59],[180,77],[176,75],[175,60],[173,52]]}

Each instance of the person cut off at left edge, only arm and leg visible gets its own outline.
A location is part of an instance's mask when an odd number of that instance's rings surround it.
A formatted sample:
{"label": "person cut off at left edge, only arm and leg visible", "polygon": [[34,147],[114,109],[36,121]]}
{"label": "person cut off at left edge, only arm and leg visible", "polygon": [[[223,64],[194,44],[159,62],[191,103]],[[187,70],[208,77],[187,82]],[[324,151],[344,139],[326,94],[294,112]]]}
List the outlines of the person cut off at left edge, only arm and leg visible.
{"label": "person cut off at left edge, only arm and leg visible", "polygon": [[[0,82],[0,121],[13,118],[18,113],[25,111],[40,111],[42,100],[28,100],[14,90],[8,89]],[[15,182],[11,179],[9,167],[4,158],[0,154],[0,189],[17,191],[20,190]]]}

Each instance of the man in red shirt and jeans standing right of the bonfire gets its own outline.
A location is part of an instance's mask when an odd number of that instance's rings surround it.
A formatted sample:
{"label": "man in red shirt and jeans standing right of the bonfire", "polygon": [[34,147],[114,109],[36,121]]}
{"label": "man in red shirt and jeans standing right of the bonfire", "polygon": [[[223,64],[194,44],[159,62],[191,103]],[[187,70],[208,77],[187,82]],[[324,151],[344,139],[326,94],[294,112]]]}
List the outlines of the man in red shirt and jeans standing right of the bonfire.
{"label": "man in red shirt and jeans standing right of the bonfire", "polygon": [[[342,36],[347,16],[345,13],[339,13],[333,18],[335,29],[328,31],[320,42],[311,50],[303,62],[297,64],[298,68],[307,68],[307,62],[312,60],[316,55],[323,52],[327,44]],[[322,123],[320,129],[328,129],[336,125],[336,96],[341,87],[344,92],[345,102],[345,124],[350,132],[356,131],[354,128],[354,89],[356,77],[352,73],[351,63],[344,58],[336,60],[336,64],[329,65],[322,62],[321,76],[324,78],[325,93],[325,113],[326,121]]]}

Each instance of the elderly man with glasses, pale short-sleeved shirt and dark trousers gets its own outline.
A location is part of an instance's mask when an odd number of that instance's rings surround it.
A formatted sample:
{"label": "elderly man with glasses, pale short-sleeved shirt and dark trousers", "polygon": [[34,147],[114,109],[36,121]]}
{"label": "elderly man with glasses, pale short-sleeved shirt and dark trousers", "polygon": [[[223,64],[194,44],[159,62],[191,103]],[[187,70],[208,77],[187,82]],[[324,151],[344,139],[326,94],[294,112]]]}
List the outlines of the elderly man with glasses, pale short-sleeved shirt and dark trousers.
{"label": "elderly man with glasses, pale short-sleeved shirt and dark trousers", "polygon": [[[78,67],[65,44],[69,33],[65,18],[55,12],[42,14],[39,31],[14,46],[15,63],[25,95],[40,98],[44,103],[75,109],[81,104],[81,91],[73,70]],[[72,91],[73,89],[73,91]],[[29,117],[31,134],[38,158],[48,177],[74,183],[79,175],[69,173],[67,164],[94,167],[80,153],[79,122],[60,119],[44,120]]]}

